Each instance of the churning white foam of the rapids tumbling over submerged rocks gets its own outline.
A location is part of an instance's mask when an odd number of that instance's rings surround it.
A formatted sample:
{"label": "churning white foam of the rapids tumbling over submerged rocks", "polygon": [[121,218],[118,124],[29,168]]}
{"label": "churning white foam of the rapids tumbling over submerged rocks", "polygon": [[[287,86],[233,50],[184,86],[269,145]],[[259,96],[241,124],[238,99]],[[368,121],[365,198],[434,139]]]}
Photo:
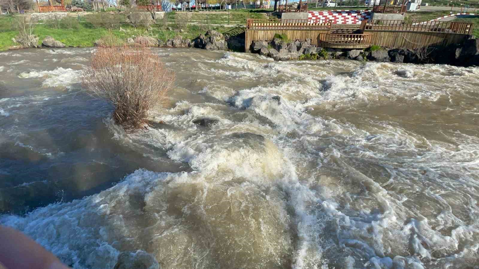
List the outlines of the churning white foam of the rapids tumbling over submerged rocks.
{"label": "churning white foam of the rapids tumbling over submerged rocks", "polygon": [[[364,110],[399,98],[431,103],[464,91],[473,98],[476,69],[276,63],[235,53],[208,61],[201,64],[224,71],[223,78],[241,70],[262,83],[206,86],[200,93],[228,103],[178,101],[158,108],[152,116],[165,124],[145,132],[125,134],[104,121],[132,150],[165,152],[188,172],[139,169],[98,194],[25,216],[3,215],[0,223],[24,231],[74,268],[113,268],[123,251],[132,259],[148,253],[161,268],[460,268],[479,262],[477,136],[454,132],[439,141],[394,122],[372,119],[359,127],[310,110]],[[24,76],[48,76],[36,72]],[[441,86],[437,73],[458,86]],[[284,79],[270,79],[278,76]],[[193,123],[201,118],[217,123]]]}

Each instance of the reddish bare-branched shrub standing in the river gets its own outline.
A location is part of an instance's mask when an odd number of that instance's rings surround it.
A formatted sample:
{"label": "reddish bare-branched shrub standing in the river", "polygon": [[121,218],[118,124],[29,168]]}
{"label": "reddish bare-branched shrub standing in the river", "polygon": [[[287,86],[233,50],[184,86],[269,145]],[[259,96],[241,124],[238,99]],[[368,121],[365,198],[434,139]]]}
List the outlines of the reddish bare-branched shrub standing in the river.
{"label": "reddish bare-branched shrub standing in the river", "polygon": [[133,133],[146,129],[149,111],[165,101],[174,73],[147,47],[99,47],[82,80],[92,95],[114,105],[115,123]]}

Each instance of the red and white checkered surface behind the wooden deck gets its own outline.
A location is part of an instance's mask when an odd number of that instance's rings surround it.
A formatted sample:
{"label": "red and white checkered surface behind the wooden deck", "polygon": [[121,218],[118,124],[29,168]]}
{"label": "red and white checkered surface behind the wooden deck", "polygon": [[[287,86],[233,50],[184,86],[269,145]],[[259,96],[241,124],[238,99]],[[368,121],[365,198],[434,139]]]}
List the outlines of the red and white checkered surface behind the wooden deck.
{"label": "red and white checkered surface behind the wooden deck", "polygon": [[308,20],[311,23],[331,20],[331,23],[337,24],[360,24],[370,18],[369,11],[363,10],[308,11]]}

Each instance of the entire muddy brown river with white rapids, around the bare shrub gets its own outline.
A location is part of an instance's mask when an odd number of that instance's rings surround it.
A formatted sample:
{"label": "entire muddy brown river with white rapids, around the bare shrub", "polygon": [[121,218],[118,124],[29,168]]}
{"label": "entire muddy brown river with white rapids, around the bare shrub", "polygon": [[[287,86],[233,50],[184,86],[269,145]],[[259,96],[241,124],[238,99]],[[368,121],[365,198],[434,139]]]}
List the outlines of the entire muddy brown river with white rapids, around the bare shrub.
{"label": "entire muddy brown river with white rapids, around the bare shrub", "polygon": [[125,134],[91,50],[0,53],[0,224],[67,265],[479,266],[479,68],[158,49],[164,124]]}

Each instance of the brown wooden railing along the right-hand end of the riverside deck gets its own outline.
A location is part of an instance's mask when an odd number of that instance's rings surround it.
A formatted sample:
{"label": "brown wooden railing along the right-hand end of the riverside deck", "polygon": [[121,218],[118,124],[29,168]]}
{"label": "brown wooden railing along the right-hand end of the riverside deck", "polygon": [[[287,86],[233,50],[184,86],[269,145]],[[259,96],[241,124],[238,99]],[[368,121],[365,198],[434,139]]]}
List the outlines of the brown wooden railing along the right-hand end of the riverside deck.
{"label": "brown wooden railing along the right-hand end of the riverside deck", "polygon": [[467,22],[370,20],[365,23],[363,30],[472,34],[473,26],[473,23]]}

